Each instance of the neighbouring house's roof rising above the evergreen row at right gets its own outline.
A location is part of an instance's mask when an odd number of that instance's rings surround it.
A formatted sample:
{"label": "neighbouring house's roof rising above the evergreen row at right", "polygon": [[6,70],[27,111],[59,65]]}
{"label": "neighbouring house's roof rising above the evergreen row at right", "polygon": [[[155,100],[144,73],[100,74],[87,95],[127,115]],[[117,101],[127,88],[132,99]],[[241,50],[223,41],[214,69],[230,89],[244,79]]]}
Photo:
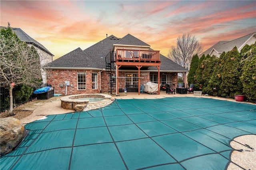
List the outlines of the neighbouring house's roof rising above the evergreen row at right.
{"label": "neighbouring house's roof rising above the evergreen row at right", "polygon": [[215,45],[213,45],[212,47],[210,47],[209,49],[201,53],[199,58],[202,57],[203,54],[204,55],[209,54],[210,56],[212,56],[213,51],[216,51],[216,53],[220,55],[224,51],[225,52],[231,51],[235,46],[237,47],[238,51],[240,51],[252,37],[255,37],[256,39],[256,32],[250,33],[243,37],[234,39],[232,41],[219,41],[218,43],[216,43]]}

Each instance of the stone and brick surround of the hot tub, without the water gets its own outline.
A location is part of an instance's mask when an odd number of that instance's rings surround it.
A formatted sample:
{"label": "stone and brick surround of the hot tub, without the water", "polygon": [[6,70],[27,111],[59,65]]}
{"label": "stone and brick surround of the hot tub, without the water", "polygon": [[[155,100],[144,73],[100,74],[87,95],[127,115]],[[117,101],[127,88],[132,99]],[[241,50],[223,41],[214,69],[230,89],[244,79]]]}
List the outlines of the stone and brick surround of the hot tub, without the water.
{"label": "stone and brick surround of the hot tub, without the water", "polygon": [[[90,102],[89,100],[76,100],[77,98],[104,98],[104,100],[98,102]],[[112,96],[108,94],[75,94],[70,96],[65,96],[60,98],[61,107],[64,109],[73,109],[76,111],[88,111],[92,109],[98,109],[100,107],[105,107],[111,104],[114,100]],[[78,107],[80,109],[78,109]],[[82,110],[81,110],[82,108]]]}

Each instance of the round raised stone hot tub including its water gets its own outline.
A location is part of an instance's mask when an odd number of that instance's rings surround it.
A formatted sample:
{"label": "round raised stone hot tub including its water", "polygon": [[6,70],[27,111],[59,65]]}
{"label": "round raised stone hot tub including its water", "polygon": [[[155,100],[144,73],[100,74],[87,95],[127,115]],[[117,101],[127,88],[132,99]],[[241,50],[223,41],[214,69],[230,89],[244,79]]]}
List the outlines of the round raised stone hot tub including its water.
{"label": "round raised stone hot tub including its water", "polygon": [[76,106],[84,109],[88,105],[96,108],[107,106],[111,103],[111,97],[108,94],[76,94],[62,97],[60,100],[62,108],[76,110]]}

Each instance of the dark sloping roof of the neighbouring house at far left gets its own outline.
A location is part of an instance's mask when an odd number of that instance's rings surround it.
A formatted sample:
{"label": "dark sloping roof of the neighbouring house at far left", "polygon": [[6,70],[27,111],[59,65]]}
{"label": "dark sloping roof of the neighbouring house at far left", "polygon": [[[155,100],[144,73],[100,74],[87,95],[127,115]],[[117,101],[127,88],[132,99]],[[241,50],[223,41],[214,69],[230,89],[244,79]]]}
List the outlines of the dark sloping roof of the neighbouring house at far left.
{"label": "dark sloping roof of the neighbouring house at far left", "polygon": [[[6,29],[7,27],[2,27],[0,26],[1,29]],[[33,38],[31,38],[28,34],[26,34],[22,29],[20,28],[13,28],[11,27],[12,32],[16,33],[16,35],[18,36],[18,38],[20,39],[20,41],[24,41],[28,44],[32,44],[36,47],[38,47],[39,49],[41,49],[42,51],[45,51],[46,53],[48,53],[51,56],[54,56],[50,51],[48,51],[48,49],[46,49],[42,44],[40,44],[38,41],[34,40]]]}

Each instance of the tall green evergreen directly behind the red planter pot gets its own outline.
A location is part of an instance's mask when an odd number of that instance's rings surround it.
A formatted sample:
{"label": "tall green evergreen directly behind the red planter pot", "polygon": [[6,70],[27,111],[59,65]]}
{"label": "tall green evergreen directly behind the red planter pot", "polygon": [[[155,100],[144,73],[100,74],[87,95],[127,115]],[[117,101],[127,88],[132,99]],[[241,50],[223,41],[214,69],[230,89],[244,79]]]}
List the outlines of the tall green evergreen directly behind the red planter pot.
{"label": "tall green evergreen directly behind the red planter pot", "polygon": [[242,94],[243,86],[241,56],[236,47],[228,51],[222,60],[222,83],[220,91],[222,97],[234,98],[234,94]]}

